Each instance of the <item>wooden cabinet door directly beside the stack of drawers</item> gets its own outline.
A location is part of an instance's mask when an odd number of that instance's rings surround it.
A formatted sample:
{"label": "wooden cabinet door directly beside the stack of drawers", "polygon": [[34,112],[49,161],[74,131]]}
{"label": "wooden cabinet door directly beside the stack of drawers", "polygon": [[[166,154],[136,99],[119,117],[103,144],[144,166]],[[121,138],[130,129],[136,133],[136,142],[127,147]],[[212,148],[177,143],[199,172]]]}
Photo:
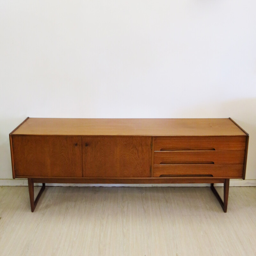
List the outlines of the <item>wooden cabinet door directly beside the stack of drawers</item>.
{"label": "wooden cabinet door directly beside the stack of drawers", "polygon": [[83,177],[150,177],[151,137],[83,137]]}

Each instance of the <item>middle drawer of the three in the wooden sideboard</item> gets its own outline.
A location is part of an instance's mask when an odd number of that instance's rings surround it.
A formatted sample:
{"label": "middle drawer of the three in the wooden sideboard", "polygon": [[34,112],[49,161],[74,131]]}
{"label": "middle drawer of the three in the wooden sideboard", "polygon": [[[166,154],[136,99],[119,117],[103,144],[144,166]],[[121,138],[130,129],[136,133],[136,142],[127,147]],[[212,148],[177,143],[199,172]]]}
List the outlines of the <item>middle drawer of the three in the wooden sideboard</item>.
{"label": "middle drawer of the three in the wooden sideboard", "polygon": [[155,151],[154,164],[243,164],[243,150]]}

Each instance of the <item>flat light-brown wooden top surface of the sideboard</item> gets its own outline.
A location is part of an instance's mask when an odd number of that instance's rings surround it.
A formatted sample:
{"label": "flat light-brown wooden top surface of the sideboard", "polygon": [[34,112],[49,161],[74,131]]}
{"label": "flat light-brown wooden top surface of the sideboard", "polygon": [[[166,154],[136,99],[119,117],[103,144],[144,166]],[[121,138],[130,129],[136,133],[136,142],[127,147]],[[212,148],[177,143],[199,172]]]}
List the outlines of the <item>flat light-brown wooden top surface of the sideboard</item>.
{"label": "flat light-brown wooden top surface of the sideboard", "polygon": [[246,136],[228,118],[28,118],[13,135]]}

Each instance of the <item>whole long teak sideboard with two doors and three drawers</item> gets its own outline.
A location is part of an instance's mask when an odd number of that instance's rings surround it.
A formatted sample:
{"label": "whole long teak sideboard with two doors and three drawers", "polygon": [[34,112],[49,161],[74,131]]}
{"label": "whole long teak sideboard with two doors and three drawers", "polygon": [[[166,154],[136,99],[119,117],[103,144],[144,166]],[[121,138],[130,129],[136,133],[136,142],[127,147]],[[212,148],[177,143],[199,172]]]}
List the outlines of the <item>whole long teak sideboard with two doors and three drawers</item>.
{"label": "whole long teak sideboard with two doors and three drawers", "polygon": [[[227,212],[230,179],[245,179],[249,135],[231,118],[27,118],[10,133],[12,175],[31,211],[45,183],[211,183]],[[34,199],[34,183],[43,183]],[[224,200],[214,188],[224,183]]]}

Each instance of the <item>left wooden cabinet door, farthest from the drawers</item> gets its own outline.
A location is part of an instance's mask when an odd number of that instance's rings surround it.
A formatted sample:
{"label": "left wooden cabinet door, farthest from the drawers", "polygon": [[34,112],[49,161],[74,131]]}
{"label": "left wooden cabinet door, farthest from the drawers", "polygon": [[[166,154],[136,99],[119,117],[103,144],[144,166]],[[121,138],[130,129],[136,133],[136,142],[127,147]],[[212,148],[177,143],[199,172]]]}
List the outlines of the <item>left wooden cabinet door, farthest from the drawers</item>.
{"label": "left wooden cabinet door, farthest from the drawers", "polygon": [[15,177],[82,177],[81,137],[13,136]]}

